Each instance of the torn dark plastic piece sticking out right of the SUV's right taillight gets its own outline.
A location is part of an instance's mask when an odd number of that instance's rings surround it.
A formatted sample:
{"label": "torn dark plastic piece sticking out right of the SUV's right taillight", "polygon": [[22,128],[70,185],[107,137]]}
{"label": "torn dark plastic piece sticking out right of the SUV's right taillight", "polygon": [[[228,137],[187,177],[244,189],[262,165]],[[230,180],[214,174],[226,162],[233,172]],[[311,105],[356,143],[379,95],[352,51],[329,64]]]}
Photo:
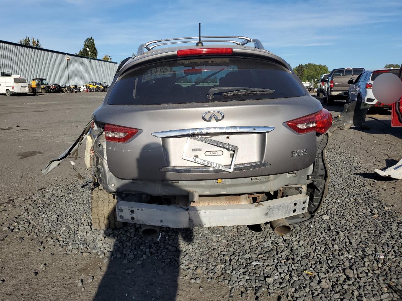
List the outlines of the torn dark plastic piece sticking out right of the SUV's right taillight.
{"label": "torn dark plastic piece sticking out right of the SUV's right taillight", "polygon": [[329,131],[347,130],[351,126],[361,126],[366,119],[367,111],[371,105],[355,100],[343,106],[343,112],[332,117],[332,126]]}

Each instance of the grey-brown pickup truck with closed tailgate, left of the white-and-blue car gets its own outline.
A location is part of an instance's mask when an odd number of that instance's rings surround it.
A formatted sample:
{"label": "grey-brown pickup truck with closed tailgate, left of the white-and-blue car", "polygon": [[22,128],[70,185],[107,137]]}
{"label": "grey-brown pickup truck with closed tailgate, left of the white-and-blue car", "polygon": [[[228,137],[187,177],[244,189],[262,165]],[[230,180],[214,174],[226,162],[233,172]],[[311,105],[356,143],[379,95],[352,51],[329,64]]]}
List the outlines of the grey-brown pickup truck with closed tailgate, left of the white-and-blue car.
{"label": "grey-brown pickup truck with closed tailgate, left of the white-and-blue car", "polygon": [[324,102],[329,106],[334,104],[336,96],[346,97],[350,84],[349,79],[355,80],[364,68],[337,68],[333,69],[326,80],[324,87]]}

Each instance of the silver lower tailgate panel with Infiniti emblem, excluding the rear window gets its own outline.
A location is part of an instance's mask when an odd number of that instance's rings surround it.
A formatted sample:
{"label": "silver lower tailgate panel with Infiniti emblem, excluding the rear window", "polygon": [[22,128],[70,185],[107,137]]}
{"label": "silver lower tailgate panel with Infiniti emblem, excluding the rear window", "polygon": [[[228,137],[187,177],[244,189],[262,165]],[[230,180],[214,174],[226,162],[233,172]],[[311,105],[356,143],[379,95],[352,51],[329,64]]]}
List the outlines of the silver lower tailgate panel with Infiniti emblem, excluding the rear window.
{"label": "silver lower tailgate panel with Infiniti emblem, excluding the rear window", "polygon": [[[231,106],[213,108],[158,108],[141,112],[128,112],[126,108],[125,114],[132,117],[123,125],[139,128],[139,134],[126,143],[106,143],[109,169],[121,179],[195,180],[271,175],[310,166],[316,155],[316,132],[297,134],[284,122],[308,115],[311,111],[317,112],[320,105],[307,97],[282,102],[271,100],[269,104],[263,100],[254,102],[240,106],[231,103]],[[295,110],[295,102],[306,106]],[[121,108],[116,107],[109,110],[108,123],[121,124],[121,120],[126,118],[113,118],[115,110],[122,112]],[[201,116],[209,110],[223,112],[224,120],[207,124]],[[187,149],[186,157],[198,157],[229,166],[233,151],[197,140],[191,140],[189,147],[186,147],[188,135],[185,134],[181,137],[159,138],[164,131],[188,130],[189,125],[199,129],[197,132],[201,134],[197,136],[238,147],[233,172],[215,170],[213,173],[206,173],[205,165],[183,159],[183,153]],[[251,133],[237,133],[238,127],[250,127]],[[252,128],[256,127],[275,129],[252,133]],[[228,132],[202,134],[211,128]],[[191,132],[194,133],[194,130]],[[252,163],[254,164],[249,168],[242,167]],[[236,169],[238,166],[241,167],[240,170]]]}

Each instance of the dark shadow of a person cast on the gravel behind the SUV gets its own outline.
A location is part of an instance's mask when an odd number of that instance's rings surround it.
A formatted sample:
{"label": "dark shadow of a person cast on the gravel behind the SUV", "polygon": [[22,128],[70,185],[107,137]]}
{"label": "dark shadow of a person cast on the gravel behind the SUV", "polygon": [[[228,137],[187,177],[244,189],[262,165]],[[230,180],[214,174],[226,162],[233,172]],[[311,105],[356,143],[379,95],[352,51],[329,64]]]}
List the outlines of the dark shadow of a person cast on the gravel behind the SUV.
{"label": "dark shadow of a person cast on the gravel behind the SUV", "polygon": [[[144,146],[143,150],[154,147],[161,145],[153,143]],[[145,154],[141,151],[137,161],[144,163]],[[106,230],[105,235],[114,238],[115,244],[93,300],[176,300],[181,254],[179,240],[193,242],[193,230],[161,227],[160,234],[159,238],[143,238],[141,226],[128,223],[118,230]]]}

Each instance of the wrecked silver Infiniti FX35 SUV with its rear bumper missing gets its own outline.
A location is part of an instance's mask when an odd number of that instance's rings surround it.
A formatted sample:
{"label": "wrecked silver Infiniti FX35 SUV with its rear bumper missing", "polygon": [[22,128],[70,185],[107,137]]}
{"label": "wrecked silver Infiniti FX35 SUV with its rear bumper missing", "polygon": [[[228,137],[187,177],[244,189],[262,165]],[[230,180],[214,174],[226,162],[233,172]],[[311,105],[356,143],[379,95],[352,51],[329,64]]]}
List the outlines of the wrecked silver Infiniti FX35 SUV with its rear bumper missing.
{"label": "wrecked silver Infiniti FX35 SUV with its rear bumper missing", "polygon": [[94,228],[136,223],[155,237],[160,226],[270,222],[283,235],[320,208],[331,114],[260,41],[197,39],[141,45],[80,137],[43,168],[86,137]]}

